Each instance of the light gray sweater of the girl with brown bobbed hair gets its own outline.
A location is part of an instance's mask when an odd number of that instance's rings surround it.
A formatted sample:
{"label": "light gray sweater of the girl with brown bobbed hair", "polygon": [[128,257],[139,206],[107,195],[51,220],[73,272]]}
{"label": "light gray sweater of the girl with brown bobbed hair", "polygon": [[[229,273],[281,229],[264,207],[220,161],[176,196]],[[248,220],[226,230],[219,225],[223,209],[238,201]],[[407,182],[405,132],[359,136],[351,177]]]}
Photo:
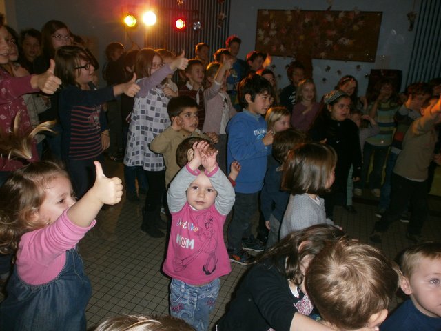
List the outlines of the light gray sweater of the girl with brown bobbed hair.
{"label": "light gray sweater of the girl with brown bobbed hair", "polygon": [[291,194],[280,226],[280,239],[286,237],[290,232],[303,230],[316,224],[334,225],[333,221],[326,218],[323,199],[318,198],[317,203],[307,193]]}

